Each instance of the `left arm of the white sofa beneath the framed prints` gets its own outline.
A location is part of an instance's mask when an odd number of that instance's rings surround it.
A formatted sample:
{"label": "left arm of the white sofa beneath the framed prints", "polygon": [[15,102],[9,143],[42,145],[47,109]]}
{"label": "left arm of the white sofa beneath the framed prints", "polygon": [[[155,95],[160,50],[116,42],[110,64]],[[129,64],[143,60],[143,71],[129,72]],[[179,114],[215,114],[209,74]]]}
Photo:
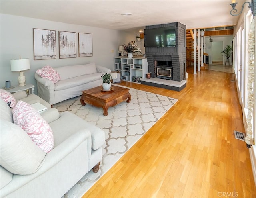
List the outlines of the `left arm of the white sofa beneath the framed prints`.
{"label": "left arm of the white sofa beneath the framed prints", "polygon": [[35,73],[35,79],[37,82],[38,96],[49,104],[53,104],[54,82],[46,78],[41,78],[37,73]]}

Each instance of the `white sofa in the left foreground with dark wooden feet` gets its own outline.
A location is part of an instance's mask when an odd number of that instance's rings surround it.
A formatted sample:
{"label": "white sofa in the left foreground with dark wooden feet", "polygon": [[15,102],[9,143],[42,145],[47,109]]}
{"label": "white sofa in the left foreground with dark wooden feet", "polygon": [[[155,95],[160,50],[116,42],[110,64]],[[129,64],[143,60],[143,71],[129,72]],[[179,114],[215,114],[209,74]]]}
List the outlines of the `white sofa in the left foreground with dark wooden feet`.
{"label": "white sofa in the left foreground with dark wooden feet", "polygon": [[[28,104],[41,102],[49,108],[41,116],[53,131],[54,148],[46,154],[37,147],[26,131],[13,123],[12,109],[0,98],[1,198],[61,197],[88,171],[98,170],[105,142],[104,131],[70,112],[59,114],[57,109],[50,108],[50,104],[34,94],[26,96],[25,92],[18,92],[13,95]],[[23,157],[24,153],[35,154],[33,159],[38,159],[38,167],[31,174],[14,174],[15,171],[10,171],[9,165],[6,167],[4,163],[6,160],[12,161],[11,166],[26,168],[27,164],[31,164],[25,161],[26,157],[16,160],[17,156]]]}

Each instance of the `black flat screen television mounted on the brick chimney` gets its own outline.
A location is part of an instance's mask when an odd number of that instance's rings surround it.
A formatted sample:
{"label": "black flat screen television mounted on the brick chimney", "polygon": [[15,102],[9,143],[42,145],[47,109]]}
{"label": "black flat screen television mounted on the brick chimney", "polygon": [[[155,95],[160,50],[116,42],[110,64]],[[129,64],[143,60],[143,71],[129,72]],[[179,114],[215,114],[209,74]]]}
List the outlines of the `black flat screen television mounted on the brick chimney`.
{"label": "black flat screen television mounted on the brick chimney", "polygon": [[144,29],[144,47],[176,47],[175,26]]}

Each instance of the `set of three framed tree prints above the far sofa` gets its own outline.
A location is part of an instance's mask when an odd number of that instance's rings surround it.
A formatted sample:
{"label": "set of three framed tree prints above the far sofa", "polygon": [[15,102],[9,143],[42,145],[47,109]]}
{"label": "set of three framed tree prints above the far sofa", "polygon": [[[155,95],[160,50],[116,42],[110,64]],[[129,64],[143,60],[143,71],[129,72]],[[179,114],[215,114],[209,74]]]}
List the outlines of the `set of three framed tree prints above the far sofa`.
{"label": "set of three framed tree prints above the far sofa", "polygon": [[[34,60],[56,59],[56,31],[33,29]],[[78,33],[79,57],[92,56],[92,34]],[[76,32],[59,31],[59,58],[76,58]]]}

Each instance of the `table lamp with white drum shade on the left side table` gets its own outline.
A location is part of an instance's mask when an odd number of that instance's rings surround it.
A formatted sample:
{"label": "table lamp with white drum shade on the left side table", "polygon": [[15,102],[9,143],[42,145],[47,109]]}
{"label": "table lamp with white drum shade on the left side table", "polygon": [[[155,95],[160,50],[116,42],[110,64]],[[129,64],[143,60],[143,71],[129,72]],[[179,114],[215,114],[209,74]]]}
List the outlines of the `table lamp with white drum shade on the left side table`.
{"label": "table lamp with white drum shade on the left side table", "polygon": [[20,76],[18,77],[18,86],[25,86],[25,76],[23,70],[30,69],[29,59],[12,59],[11,60],[11,71],[20,71]]}

